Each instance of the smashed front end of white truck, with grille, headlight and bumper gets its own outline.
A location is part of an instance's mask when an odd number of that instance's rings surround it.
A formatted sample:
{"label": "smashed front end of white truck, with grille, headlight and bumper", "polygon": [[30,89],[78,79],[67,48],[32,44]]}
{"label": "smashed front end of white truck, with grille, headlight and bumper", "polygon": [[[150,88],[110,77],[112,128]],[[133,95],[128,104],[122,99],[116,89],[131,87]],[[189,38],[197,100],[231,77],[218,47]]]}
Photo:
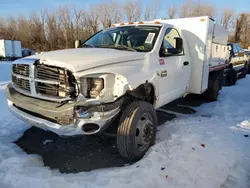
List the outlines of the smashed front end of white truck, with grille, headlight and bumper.
{"label": "smashed front end of white truck, with grille, headlight and bumper", "polygon": [[128,84],[122,76],[75,76],[66,68],[25,60],[12,68],[6,88],[10,110],[27,123],[59,135],[91,135],[117,117]]}

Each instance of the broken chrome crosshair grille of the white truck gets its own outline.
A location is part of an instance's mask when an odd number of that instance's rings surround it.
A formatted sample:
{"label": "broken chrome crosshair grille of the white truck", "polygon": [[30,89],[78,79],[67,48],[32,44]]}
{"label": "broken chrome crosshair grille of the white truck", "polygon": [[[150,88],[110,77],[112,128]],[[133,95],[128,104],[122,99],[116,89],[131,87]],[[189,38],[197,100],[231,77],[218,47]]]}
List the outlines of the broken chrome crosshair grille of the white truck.
{"label": "broken chrome crosshair grille of the white truck", "polygon": [[62,102],[76,96],[73,74],[61,67],[44,64],[13,64],[12,81],[25,95]]}

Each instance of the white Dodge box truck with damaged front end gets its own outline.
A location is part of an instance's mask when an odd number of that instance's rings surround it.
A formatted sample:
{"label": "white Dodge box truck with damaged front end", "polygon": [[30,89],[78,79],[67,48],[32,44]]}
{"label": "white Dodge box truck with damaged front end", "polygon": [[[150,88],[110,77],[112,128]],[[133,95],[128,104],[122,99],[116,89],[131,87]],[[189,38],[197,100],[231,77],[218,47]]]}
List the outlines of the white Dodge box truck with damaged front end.
{"label": "white Dodge box truck with damaged front end", "polygon": [[217,99],[228,32],[209,17],[120,23],[77,49],[16,60],[6,89],[10,110],[59,135],[116,127],[128,160],[154,144],[155,109],[186,93]]}

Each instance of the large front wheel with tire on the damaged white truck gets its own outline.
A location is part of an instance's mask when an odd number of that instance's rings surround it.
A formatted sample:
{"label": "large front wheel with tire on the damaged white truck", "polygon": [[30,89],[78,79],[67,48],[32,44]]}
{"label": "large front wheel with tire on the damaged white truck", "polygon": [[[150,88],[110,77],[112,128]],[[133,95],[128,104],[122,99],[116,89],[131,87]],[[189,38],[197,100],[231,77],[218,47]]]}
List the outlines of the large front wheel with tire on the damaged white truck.
{"label": "large front wheel with tire on the damaged white truck", "polygon": [[156,128],[157,116],[153,106],[144,101],[132,102],[119,121],[117,147],[120,155],[129,161],[141,159],[155,142]]}

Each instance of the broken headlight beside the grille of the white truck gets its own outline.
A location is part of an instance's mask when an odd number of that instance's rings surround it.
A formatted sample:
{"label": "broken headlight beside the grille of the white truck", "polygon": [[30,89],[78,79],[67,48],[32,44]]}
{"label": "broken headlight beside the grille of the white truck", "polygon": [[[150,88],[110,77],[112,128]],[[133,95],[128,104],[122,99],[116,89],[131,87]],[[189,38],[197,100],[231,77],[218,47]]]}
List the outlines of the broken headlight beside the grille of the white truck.
{"label": "broken headlight beside the grille of the white truck", "polygon": [[103,78],[81,78],[81,93],[86,98],[97,98],[103,89]]}

